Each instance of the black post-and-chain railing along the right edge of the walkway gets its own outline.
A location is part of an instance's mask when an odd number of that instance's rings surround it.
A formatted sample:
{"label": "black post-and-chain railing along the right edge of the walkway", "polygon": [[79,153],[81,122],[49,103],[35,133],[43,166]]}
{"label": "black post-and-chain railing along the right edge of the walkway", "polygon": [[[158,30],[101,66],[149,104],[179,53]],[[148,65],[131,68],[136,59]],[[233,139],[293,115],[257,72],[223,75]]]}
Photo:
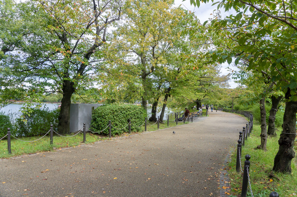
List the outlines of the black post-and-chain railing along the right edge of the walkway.
{"label": "black post-and-chain railing along the right edge of the walkway", "polygon": [[[246,160],[244,162],[244,168],[242,168],[241,166],[242,147],[245,145],[245,141],[248,140],[248,137],[250,136],[250,133],[252,132],[252,129],[253,129],[253,114],[247,111],[233,110],[233,109],[230,109],[230,110],[222,109],[222,111],[237,113],[249,119],[249,123],[247,123],[246,126],[243,127],[243,130],[239,132],[239,140],[237,144],[237,156],[236,156],[236,171],[243,172],[241,197],[247,196],[248,186],[250,187],[251,196],[254,197],[252,186],[251,186],[250,173],[249,173],[250,163],[251,163],[250,162],[251,156],[249,154],[245,156]],[[272,191],[269,194],[269,197],[279,197],[279,195],[276,191]]]}

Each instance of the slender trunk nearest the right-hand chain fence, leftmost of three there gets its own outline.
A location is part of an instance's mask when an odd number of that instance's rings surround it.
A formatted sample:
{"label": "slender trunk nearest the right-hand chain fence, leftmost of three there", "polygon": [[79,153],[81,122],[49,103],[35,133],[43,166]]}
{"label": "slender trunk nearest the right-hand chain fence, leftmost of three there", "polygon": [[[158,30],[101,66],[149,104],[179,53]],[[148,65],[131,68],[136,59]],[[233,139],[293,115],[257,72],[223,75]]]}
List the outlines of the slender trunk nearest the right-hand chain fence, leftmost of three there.
{"label": "slender trunk nearest the right-hand chain fence, leftmost of three there", "polygon": [[266,150],[267,144],[267,124],[266,124],[266,110],[265,110],[265,97],[260,100],[260,114],[261,114],[261,145],[258,148]]}

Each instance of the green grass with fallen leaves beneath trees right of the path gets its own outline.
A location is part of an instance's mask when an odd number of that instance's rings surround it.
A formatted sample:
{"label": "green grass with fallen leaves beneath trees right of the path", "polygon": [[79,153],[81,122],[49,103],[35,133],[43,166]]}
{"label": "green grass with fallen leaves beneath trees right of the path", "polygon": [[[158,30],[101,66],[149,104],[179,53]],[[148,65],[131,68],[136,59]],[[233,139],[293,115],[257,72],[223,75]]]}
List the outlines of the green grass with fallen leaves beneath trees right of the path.
{"label": "green grass with fallen leaves beneath trees right of the path", "polygon": [[[257,145],[261,144],[260,125],[254,125],[253,132],[245,146],[242,148],[241,166],[243,167],[245,155],[251,155],[250,164],[250,180],[254,196],[268,197],[272,191],[278,192],[279,196],[295,196],[297,195],[297,159],[292,159],[291,174],[282,174],[272,171],[274,157],[278,151],[278,139],[281,129],[277,132],[277,137],[268,137],[267,151],[257,149]],[[295,143],[295,151],[296,151]],[[242,172],[236,172],[236,148],[233,152],[231,162],[229,162],[229,177],[231,185],[231,196],[240,196],[242,187]],[[248,196],[250,187],[248,186]]]}

